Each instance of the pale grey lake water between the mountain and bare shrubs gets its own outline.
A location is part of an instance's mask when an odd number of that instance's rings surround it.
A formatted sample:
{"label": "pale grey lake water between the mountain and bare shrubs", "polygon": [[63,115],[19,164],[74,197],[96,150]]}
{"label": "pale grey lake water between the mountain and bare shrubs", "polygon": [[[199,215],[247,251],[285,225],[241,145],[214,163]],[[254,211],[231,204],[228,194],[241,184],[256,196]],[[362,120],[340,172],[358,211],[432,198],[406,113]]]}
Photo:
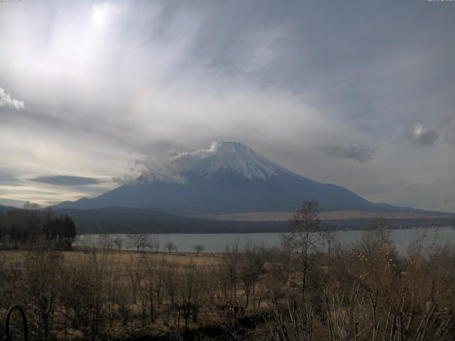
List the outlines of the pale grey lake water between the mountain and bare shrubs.
{"label": "pale grey lake water between the mountain and bare shrubs", "polygon": [[[349,230],[333,232],[334,237],[343,245],[352,244],[358,241],[363,231]],[[415,243],[418,237],[424,237],[424,246],[432,244],[444,246],[455,244],[455,229],[453,227],[438,228],[416,228],[416,229],[392,229],[392,239],[400,254],[404,254],[410,244]],[[109,234],[109,237],[121,238],[122,249],[135,250],[129,243],[128,234]],[[166,242],[173,242],[180,252],[193,252],[196,244],[203,245],[205,252],[223,252],[227,246],[238,245],[240,249],[245,248],[248,242],[264,245],[264,247],[277,247],[280,244],[279,233],[233,233],[233,234],[150,234],[156,236],[161,242],[160,251],[164,250]],[[315,237],[321,242],[319,233]],[[96,244],[100,234],[81,234],[77,237],[75,245]]]}

